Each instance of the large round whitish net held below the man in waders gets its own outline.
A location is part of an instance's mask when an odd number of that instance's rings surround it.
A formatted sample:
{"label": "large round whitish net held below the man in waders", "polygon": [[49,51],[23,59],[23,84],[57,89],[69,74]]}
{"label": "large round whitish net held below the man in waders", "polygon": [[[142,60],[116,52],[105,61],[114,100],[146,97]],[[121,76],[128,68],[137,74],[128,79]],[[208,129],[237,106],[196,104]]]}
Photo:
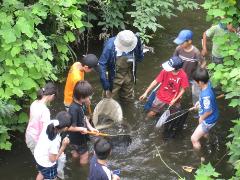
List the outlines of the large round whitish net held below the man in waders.
{"label": "large round whitish net held below the man in waders", "polygon": [[105,129],[123,120],[122,108],[112,98],[102,99],[94,109],[93,124],[97,129]]}

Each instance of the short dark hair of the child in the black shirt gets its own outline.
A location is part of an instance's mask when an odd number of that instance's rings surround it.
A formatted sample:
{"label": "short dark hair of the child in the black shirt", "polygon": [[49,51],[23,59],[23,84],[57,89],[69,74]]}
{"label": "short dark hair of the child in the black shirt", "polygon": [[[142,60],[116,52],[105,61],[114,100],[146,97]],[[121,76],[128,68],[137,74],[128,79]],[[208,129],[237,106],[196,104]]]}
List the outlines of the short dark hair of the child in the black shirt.
{"label": "short dark hair of the child in the black shirt", "polygon": [[73,97],[76,100],[85,99],[91,96],[93,88],[87,81],[78,81],[73,90]]}

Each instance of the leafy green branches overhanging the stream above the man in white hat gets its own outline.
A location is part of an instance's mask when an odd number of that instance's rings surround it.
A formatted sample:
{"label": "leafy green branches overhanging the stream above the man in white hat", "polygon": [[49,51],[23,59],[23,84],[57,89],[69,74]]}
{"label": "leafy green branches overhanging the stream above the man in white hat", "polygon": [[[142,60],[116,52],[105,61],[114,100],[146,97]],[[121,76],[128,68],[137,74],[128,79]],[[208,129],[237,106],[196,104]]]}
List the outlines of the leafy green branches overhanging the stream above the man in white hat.
{"label": "leafy green branches overhanging the stream above the man in white hat", "polygon": [[[196,9],[198,4],[189,0],[93,0],[101,9],[99,26],[103,33],[112,33],[114,29],[125,29],[126,26],[137,28],[141,38],[148,43],[152,33],[163,28],[159,17],[176,16],[176,10]],[[146,23],[147,22],[147,23]]]}

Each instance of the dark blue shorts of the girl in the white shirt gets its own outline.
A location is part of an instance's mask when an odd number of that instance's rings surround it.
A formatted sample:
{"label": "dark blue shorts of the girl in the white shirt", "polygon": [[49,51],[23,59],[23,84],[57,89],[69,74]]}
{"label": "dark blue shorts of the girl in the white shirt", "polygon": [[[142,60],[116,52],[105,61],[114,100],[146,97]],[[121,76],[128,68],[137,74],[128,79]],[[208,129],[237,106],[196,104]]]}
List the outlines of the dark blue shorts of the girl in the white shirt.
{"label": "dark blue shorts of the girl in the white shirt", "polygon": [[44,179],[56,179],[57,178],[57,163],[51,167],[43,167],[37,164],[37,169],[43,175]]}

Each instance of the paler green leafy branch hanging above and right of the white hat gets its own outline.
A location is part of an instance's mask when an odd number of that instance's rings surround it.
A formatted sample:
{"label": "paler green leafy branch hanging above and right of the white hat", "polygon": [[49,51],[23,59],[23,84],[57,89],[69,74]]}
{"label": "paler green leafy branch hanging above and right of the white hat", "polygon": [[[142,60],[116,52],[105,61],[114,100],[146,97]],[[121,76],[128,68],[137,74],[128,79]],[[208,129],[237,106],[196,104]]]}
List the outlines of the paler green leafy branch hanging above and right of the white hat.
{"label": "paler green leafy branch hanging above and right of the white hat", "polygon": [[158,17],[171,18],[176,16],[175,10],[198,8],[197,3],[188,0],[135,0],[132,6],[133,11],[128,13],[134,18],[133,26],[139,30],[142,39],[146,42],[152,38],[149,33],[156,32],[157,28],[163,28],[158,22]]}

